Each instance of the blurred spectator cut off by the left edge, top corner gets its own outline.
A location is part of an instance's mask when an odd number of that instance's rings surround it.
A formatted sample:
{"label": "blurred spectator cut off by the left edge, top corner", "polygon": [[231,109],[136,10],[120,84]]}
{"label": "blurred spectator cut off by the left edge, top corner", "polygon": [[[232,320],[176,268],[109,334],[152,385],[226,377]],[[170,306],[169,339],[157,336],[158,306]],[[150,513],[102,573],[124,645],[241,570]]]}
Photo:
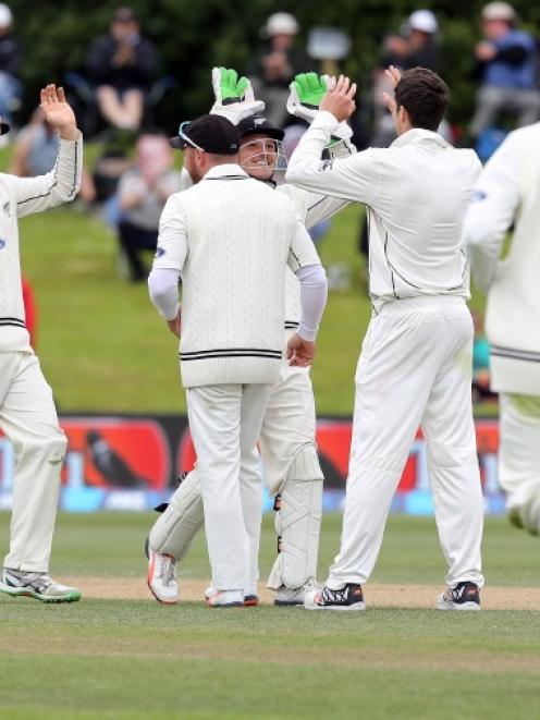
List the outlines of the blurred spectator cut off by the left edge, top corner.
{"label": "blurred spectator cut off by the left edge, top corner", "polygon": [[8,5],[0,3],[0,115],[11,122],[21,105],[23,86],[19,80],[23,60],[21,44],[12,35],[13,15]]}

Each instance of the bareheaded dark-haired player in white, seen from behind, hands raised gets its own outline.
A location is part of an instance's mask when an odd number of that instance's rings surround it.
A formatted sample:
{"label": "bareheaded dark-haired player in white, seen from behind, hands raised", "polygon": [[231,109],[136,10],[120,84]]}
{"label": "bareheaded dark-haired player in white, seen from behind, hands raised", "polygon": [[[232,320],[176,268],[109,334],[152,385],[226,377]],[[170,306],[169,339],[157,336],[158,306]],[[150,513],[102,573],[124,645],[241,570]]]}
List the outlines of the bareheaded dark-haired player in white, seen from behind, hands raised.
{"label": "bareheaded dark-haired player in white, seen from behind, hands raised", "polygon": [[361,585],[379,554],[388,512],[418,426],[441,546],[449,564],[440,609],[480,607],[482,495],[470,382],[472,320],[462,244],[481,167],[437,129],[449,89],[434,73],[391,69],[388,97],[397,139],[333,162],[322,147],[354,111],[356,87],[340,77],[293,154],[286,180],[364,203],[369,218],[373,315],[356,373],[353,440],[341,550],[306,607],[363,610]]}

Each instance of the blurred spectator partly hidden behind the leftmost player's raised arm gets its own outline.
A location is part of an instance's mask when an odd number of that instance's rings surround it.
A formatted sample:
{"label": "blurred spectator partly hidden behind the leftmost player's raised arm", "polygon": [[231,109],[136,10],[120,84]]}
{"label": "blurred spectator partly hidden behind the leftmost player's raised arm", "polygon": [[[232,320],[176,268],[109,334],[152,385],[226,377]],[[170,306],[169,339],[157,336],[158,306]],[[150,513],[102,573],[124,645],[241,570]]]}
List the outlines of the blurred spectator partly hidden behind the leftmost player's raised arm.
{"label": "blurred spectator partly hidden behind the leftmost player's raised arm", "polygon": [[[58,132],[46,122],[41,108],[37,108],[30,122],[17,133],[10,171],[21,178],[45,175],[54,167],[59,144]],[[95,195],[93,180],[83,170],[78,197],[90,204]]]}

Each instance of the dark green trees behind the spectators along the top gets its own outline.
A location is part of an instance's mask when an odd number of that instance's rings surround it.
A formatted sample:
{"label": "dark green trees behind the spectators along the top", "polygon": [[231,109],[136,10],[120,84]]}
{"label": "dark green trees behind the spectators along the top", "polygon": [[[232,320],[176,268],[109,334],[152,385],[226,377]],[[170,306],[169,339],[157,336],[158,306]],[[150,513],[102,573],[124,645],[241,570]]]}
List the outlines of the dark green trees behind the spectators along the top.
{"label": "dark green trees behind the spectators along the top", "polygon": [[[245,71],[260,47],[260,28],[275,11],[293,13],[300,25],[299,41],[317,25],[335,26],[352,38],[352,52],[344,70],[363,88],[376,66],[381,40],[395,30],[410,12],[429,5],[442,34],[443,75],[452,88],[451,121],[466,125],[472,106],[475,85],[470,81],[472,51],[480,37],[482,0],[144,0],[94,2],[79,0],[12,0],[15,30],[24,44],[23,82],[25,106],[35,97],[45,77],[61,81],[68,70],[81,70],[94,37],[107,30],[118,7],[133,8],[145,35],[159,47],[163,74],[172,74],[179,88],[162,108],[159,118],[167,131],[175,130],[182,118],[205,112],[211,105],[210,69],[228,65]],[[540,4],[515,0],[521,25],[540,34]],[[47,28],[47,35],[44,34]]]}

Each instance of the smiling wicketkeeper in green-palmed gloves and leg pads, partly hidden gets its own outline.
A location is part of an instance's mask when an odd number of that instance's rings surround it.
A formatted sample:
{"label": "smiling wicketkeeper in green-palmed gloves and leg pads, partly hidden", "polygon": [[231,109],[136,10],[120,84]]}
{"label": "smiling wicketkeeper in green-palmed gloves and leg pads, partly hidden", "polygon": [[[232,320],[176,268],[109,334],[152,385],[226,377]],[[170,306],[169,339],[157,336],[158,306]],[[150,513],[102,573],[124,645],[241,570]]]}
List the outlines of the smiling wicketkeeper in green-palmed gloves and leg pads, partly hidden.
{"label": "smiling wicketkeeper in green-palmed gloves and leg pads, partly hidden", "polygon": [[[253,178],[275,186],[274,172],[283,166],[281,141],[283,131],[259,113],[263,106],[249,97],[246,78],[235,71],[213,70],[216,103],[212,112],[230,117],[241,135],[240,163]],[[309,87],[308,87],[309,83]],[[297,76],[290,110],[305,119],[312,119],[326,86],[310,73]],[[247,96],[247,99],[246,99]],[[223,100],[228,100],[223,105]],[[293,105],[292,105],[293,103]],[[311,110],[306,109],[309,106]],[[306,115],[309,112],[310,115]],[[245,117],[243,117],[245,115]],[[340,147],[333,152],[349,154],[351,130],[342,127]],[[284,166],[283,166],[284,170]],[[184,182],[186,182],[185,172]],[[188,179],[186,182],[188,186]],[[279,191],[293,200],[298,216],[307,228],[331,217],[345,200],[308,193],[292,185],[279,185]],[[299,322],[299,285],[293,272],[285,271],[285,343]],[[275,590],[274,605],[292,606],[304,602],[304,593],[312,587],[317,573],[319,532],[322,505],[323,476],[316,447],[315,400],[309,368],[292,367],[282,361],[280,378],[272,390],[260,432],[260,451],[265,480],[275,496],[274,510],[278,533],[278,558],[268,581]],[[261,505],[254,512],[259,516]],[[197,468],[181,481],[170,504],[155,523],[148,538],[150,574],[148,584],[160,602],[172,605],[179,600],[175,564],[183,560],[197,530],[204,524],[200,496],[200,475]],[[208,595],[212,593],[209,588]],[[257,588],[246,593],[245,605],[258,603]]]}

